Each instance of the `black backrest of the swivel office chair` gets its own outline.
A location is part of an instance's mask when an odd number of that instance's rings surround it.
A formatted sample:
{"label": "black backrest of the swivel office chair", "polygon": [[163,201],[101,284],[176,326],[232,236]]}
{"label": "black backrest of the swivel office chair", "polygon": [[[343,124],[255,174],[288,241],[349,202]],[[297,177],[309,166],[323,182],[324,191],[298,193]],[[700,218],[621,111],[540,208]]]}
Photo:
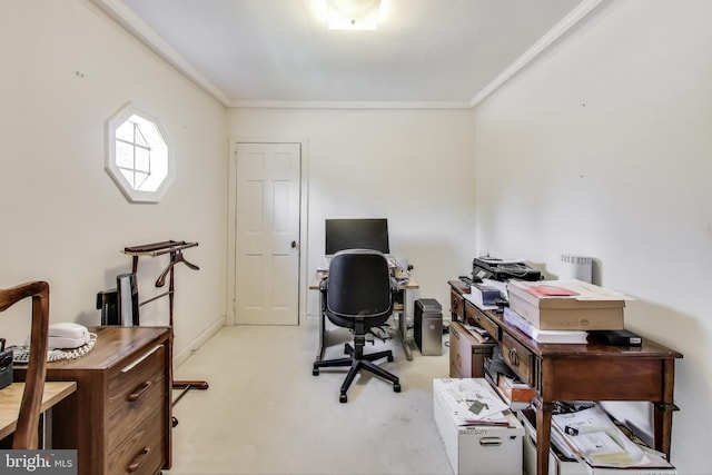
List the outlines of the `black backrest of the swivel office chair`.
{"label": "black backrest of the swivel office chair", "polygon": [[388,261],[382,253],[369,249],[337,253],[329,265],[327,315],[388,316],[393,313],[390,288]]}

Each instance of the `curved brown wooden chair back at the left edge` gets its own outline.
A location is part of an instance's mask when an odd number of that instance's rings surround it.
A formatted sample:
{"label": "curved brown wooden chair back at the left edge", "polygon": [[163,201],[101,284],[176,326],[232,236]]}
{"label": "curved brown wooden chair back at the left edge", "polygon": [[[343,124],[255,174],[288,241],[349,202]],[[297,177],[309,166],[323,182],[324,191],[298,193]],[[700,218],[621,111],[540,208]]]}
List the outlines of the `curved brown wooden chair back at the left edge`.
{"label": "curved brown wooden chair back at the left edge", "polygon": [[30,360],[24,379],[24,392],[20,402],[12,448],[36,449],[38,427],[42,410],[42,393],[47,376],[47,346],[49,335],[49,284],[31,281],[0,289],[0,311],[13,304],[32,297],[32,327],[30,331]]}

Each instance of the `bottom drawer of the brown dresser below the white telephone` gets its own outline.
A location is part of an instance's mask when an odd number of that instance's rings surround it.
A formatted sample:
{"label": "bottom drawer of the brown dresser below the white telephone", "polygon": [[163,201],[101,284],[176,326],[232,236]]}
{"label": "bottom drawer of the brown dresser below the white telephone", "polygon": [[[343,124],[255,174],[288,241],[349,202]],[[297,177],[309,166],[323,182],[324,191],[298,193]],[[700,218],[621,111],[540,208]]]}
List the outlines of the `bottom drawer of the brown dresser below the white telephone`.
{"label": "bottom drawer of the brown dresser below the white telephone", "polygon": [[162,414],[154,412],[126,434],[126,438],[108,456],[108,474],[158,473],[166,459],[161,424]]}

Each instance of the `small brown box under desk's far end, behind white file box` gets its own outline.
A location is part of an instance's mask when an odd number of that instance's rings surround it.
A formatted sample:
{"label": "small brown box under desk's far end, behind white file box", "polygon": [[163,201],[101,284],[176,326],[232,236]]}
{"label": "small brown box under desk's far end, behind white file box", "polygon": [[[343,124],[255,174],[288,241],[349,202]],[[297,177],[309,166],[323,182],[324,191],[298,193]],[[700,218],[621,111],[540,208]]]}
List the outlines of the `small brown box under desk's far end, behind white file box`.
{"label": "small brown box under desk's far end, behind white file box", "polygon": [[479,378],[485,374],[485,357],[492,355],[496,343],[479,343],[459,323],[449,325],[449,376]]}

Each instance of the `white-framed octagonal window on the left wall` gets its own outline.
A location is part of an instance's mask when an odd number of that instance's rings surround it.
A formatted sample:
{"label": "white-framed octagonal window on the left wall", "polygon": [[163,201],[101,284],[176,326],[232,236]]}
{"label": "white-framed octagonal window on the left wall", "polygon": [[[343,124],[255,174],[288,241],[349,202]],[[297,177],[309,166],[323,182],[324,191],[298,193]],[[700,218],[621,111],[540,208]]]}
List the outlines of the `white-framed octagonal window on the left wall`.
{"label": "white-framed octagonal window on the left wall", "polygon": [[107,121],[106,169],[131,202],[158,202],[174,175],[160,121],[127,106]]}

